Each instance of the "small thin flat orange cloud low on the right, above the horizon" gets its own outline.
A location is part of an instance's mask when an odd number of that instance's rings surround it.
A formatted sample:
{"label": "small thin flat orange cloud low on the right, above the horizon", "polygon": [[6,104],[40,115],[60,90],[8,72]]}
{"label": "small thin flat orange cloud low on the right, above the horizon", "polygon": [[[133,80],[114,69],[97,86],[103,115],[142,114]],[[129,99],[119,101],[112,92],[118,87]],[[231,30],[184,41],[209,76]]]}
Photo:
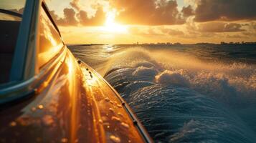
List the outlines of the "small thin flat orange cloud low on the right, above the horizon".
{"label": "small thin flat orange cloud low on the right, above the horizon", "polygon": [[237,32],[245,31],[242,29],[242,24],[224,23],[224,22],[207,22],[199,24],[199,31],[201,32]]}

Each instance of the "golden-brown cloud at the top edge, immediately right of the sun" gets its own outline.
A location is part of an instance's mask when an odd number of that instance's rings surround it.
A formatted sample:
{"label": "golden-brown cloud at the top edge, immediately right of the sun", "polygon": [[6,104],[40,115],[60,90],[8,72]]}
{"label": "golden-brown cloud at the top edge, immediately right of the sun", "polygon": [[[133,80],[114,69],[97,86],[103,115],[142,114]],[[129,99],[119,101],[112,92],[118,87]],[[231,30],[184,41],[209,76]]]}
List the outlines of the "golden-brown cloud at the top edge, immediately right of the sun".
{"label": "golden-brown cloud at the top edge, immediately right of the sun", "polygon": [[111,0],[110,5],[118,9],[116,20],[123,24],[171,25],[186,21],[174,0]]}

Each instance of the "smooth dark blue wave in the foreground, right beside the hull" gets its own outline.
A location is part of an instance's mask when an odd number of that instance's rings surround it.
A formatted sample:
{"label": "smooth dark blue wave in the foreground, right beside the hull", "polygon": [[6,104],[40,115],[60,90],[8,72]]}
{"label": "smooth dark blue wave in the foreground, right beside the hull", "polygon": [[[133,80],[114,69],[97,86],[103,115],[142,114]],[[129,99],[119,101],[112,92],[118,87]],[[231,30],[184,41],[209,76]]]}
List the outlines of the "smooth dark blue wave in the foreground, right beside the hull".
{"label": "smooth dark blue wave in the foreground, right beside the hull", "polygon": [[156,142],[254,142],[236,114],[191,89],[155,84],[127,97]]}

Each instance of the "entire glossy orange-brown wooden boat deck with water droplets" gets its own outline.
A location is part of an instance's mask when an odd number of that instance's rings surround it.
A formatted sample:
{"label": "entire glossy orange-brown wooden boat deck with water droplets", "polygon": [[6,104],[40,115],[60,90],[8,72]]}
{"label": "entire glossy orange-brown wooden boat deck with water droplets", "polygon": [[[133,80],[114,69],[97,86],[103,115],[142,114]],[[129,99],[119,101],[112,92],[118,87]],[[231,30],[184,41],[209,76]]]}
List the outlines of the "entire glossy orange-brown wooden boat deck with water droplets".
{"label": "entire glossy orange-brown wooden boat deck with water droplets", "polygon": [[0,109],[0,141],[143,142],[102,77],[63,52],[32,98]]}

